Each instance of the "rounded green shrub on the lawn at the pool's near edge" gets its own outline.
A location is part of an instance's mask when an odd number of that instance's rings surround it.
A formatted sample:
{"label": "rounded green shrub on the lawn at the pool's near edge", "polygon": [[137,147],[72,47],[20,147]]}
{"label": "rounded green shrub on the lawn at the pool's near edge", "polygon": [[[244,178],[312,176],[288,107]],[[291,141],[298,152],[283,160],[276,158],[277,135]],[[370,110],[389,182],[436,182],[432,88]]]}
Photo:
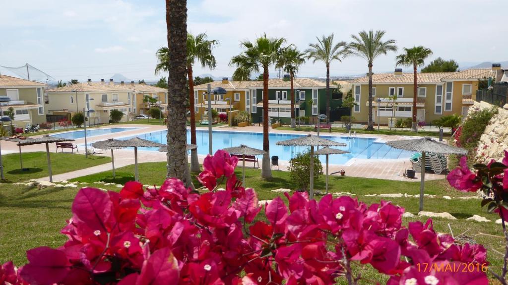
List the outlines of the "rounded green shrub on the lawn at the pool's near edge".
{"label": "rounded green shrub on the lawn at the pool's near edge", "polygon": [[[294,181],[302,191],[308,191],[310,185],[310,151],[298,153],[289,161],[291,180]],[[314,182],[323,174],[321,161],[314,156]]]}

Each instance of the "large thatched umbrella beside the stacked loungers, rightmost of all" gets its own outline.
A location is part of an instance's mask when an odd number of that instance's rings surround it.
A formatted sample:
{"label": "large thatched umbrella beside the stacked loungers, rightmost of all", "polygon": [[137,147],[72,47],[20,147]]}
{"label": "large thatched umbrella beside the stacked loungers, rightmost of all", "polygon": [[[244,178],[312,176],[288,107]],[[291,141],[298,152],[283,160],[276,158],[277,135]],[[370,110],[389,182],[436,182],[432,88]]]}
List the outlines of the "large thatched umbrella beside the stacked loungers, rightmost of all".
{"label": "large thatched umbrella beside the stacked loungers, rightmost of all", "polygon": [[415,151],[422,153],[422,176],[420,177],[420,211],[423,210],[423,189],[425,185],[425,153],[438,153],[438,154],[458,154],[466,155],[467,150],[445,145],[442,142],[436,141],[430,137],[423,137],[419,139],[404,139],[392,140],[386,143],[388,146],[396,149]]}

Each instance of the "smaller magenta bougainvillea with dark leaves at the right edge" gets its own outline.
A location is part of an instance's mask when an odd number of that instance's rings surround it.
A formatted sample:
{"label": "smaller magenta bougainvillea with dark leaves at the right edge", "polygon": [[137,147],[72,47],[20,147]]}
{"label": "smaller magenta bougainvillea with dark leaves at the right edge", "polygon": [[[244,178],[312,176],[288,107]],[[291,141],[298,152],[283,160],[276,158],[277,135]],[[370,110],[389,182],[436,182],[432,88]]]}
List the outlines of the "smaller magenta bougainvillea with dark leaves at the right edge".
{"label": "smaller magenta bougainvillea with dark leaves at the right edge", "polygon": [[488,205],[489,211],[499,214],[507,246],[502,274],[493,273],[493,275],[502,284],[506,284],[508,232],[504,222],[508,221],[508,151],[504,151],[501,162],[491,159],[488,164],[477,163],[473,165],[473,168],[474,172],[467,167],[466,157],[463,156],[459,166],[448,174],[447,179],[451,186],[462,192],[481,190],[486,197],[482,201],[482,206]]}

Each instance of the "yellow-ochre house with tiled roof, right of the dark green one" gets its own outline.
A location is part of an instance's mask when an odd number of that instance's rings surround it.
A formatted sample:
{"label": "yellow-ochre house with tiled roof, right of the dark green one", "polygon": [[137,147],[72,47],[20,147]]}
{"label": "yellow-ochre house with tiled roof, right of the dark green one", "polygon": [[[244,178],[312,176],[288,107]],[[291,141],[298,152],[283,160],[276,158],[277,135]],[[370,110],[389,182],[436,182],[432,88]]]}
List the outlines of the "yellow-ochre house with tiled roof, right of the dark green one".
{"label": "yellow-ochre house with tiled roof, right of the dark green one", "polygon": [[[478,80],[496,78],[498,65],[492,68],[465,69],[455,73],[418,73],[417,120],[431,123],[442,116],[467,114],[478,90]],[[372,118],[374,122],[388,124],[389,118],[411,118],[413,105],[413,73],[395,69],[390,74],[372,76]],[[368,77],[351,81],[352,94],[357,105],[353,117],[357,122],[368,121]],[[389,96],[396,95],[396,100]],[[380,99],[380,100],[378,100]],[[379,106],[379,109],[378,109]],[[392,109],[393,108],[393,109]]]}

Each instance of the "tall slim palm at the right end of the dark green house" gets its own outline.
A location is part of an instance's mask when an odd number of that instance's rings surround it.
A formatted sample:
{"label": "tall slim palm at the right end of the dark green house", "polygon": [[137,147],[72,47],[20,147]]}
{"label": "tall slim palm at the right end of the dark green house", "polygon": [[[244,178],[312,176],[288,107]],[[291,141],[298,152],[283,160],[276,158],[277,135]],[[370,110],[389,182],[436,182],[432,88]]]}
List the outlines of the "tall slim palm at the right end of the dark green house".
{"label": "tall slim palm at the right end of the dark green house", "polygon": [[[321,39],[317,38],[317,43],[309,44],[309,48],[305,50],[307,58],[312,58],[312,63],[316,61],[323,61],[326,65],[326,122],[330,123],[330,63],[333,60],[340,60],[340,56],[343,54],[346,42],[338,42],[333,44],[333,33],[328,37],[322,35]],[[319,116],[319,108],[317,110]]]}

